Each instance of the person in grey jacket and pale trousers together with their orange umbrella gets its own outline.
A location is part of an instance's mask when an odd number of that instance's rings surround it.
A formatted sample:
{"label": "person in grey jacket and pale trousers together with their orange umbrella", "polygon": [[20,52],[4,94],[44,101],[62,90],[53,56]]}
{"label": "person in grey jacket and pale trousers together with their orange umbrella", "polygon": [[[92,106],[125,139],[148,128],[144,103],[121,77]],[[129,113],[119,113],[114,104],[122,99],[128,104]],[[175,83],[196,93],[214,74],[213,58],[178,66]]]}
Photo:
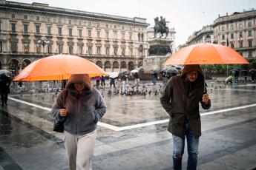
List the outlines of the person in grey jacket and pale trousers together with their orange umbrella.
{"label": "person in grey jacket and pale trousers together with their orange umbrella", "polygon": [[[92,77],[106,75],[101,68],[85,58],[73,55],[53,55],[25,67],[14,81],[66,80],[53,104],[53,130],[65,135],[65,148],[71,170],[91,169],[91,157],[96,139],[96,123],[106,112],[100,92],[91,84]],[[64,124],[63,124],[64,123]]]}

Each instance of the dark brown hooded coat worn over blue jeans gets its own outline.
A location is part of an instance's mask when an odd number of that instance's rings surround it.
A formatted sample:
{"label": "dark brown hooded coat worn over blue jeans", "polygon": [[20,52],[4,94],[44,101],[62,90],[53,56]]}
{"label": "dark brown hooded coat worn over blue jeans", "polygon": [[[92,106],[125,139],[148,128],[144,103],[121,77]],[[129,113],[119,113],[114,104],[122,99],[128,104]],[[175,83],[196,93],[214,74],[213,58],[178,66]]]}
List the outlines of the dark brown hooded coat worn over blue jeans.
{"label": "dark brown hooded coat worn over blue jeans", "polygon": [[[199,72],[196,81],[190,82],[186,80],[186,73],[194,70]],[[199,102],[203,109],[209,109],[211,106],[211,102],[208,105],[202,102],[203,88],[203,72],[199,65],[186,66],[183,69],[182,75],[174,76],[168,81],[160,101],[165,111],[170,115],[168,131],[173,135],[184,138],[186,135],[185,124],[188,121],[194,132],[194,136],[200,137],[201,120]]]}

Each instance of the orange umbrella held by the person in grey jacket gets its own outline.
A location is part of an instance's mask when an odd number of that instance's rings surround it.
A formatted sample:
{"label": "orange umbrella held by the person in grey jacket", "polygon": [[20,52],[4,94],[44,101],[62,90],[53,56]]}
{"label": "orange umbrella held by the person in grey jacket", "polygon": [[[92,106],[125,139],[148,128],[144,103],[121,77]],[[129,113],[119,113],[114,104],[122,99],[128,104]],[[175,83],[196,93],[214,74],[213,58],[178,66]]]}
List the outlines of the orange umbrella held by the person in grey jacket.
{"label": "orange umbrella held by the person in grey jacket", "polygon": [[53,55],[33,61],[14,81],[58,81],[73,74],[88,74],[90,77],[107,75],[96,64],[73,55]]}

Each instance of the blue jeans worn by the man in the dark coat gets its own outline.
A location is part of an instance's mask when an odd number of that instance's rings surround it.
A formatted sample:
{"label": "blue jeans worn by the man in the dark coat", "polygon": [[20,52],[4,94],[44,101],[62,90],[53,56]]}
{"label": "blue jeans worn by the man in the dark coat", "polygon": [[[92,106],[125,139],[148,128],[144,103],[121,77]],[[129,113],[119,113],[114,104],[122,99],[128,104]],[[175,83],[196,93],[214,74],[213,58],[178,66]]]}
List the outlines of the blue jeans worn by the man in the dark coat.
{"label": "blue jeans worn by the man in the dark coat", "polygon": [[[173,169],[181,170],[184,146],[185,146],[185,138],[178,137],[172,135],[174,141],[174,152],[173,152]],[[186,138],[188,145],[188,170],[197,169],[197,154],[198,154],[198,144],[199,137],[194,137],[192,129],[189,123],[186,123]]]}

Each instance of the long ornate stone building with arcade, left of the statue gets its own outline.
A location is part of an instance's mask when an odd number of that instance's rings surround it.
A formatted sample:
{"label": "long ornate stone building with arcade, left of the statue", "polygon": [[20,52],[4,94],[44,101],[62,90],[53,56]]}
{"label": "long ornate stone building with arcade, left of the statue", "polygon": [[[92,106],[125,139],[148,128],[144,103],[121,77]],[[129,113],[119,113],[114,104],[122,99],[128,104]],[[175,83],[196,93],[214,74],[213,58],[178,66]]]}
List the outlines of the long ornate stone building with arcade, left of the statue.
{"label": "long ornate stone building with arcade, left of the statue", "polygon": [[39,58],[70,54],[107,72],[137,69],[148,53],[148,25],[145,18],[1,0],[0,67],[16,75]]}

